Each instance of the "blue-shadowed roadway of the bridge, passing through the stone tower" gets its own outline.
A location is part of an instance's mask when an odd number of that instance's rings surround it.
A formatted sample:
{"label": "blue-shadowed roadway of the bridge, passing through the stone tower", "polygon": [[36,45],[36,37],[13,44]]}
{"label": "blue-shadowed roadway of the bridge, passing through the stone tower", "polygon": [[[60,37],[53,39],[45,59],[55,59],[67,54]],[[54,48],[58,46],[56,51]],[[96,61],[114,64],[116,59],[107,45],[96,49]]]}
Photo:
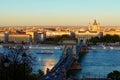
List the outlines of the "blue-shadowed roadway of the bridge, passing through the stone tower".
{"label": "blue-shadowed roadway of the bridge, passing through the stone tower", "polygon": [[[81,47],[82,44],[78,45],[76,48],[77,56],[79,55]],[[71,46],[66,46],[59,62],[51,69],[50,72],[38,80],[64,80],[66,78],[66,72],[70,69],[70,66],[75,60],[72,55],[74,52],[72,48],[73,47]]]}

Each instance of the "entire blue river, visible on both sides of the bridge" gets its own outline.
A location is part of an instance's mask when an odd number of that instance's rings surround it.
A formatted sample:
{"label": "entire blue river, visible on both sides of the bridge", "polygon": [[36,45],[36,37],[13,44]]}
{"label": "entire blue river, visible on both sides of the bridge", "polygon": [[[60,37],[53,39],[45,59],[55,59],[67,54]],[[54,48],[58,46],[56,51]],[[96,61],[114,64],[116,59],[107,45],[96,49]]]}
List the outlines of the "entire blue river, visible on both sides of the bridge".
{"label": "entire blue river, visible on both sides of the bridge", "polygon": [[[59,61],[62,50],[50,50],[53,54],[37,54],[44,50],[34,49],[29,53],[35,57],[36,62],[33,66],[33,72],[37,72],[38,69],[43,70],[46,73],[46,69],[51,69]],[[83,78],[103,78],[113,71],[120,71],[120,50],[89,50],[79,59],[79,63],[82,66],[81,70],[74,71],[74,76]]]}

